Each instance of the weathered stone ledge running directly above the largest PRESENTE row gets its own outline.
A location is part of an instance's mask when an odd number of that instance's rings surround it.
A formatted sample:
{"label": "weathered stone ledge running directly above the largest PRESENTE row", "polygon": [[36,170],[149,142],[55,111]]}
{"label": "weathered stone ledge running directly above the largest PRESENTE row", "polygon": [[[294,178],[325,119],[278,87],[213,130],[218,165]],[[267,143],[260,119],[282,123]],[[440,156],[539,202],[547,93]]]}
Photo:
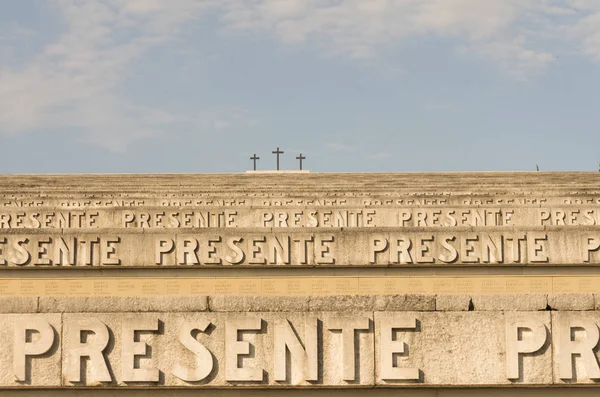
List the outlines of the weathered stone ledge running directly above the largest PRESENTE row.
{"label": "weathered stone ledge running directly above the largest PRESENTE row", "polygon": [[[597,299],[597,298],[596,298]],[[0,313],[588,311],[594,294],[0,297]]]}

